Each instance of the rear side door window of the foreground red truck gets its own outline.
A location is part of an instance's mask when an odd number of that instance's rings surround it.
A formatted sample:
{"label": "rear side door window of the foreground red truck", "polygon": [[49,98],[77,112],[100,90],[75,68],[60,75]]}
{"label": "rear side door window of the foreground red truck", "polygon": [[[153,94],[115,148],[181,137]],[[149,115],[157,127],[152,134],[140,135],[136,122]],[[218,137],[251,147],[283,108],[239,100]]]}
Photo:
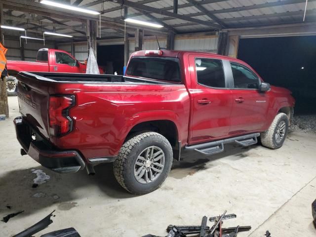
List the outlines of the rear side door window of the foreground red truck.
{"label": "rear side door window of the foreground red truck", "polygon": [[195,62],[198,84],[217,88],[225,87],[225,74],[222,60],[196,58]]}

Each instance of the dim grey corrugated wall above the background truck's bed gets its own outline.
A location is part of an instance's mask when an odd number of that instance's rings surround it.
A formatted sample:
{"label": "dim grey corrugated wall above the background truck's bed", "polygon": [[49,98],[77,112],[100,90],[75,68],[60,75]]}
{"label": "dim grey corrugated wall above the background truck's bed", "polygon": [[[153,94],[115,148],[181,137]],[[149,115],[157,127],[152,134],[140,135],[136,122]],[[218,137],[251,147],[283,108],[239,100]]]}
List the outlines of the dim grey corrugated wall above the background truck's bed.
{"label": "dim grey corrugated wall above the background truck's bed", "polygon": [[[24,60],[25,61],[36,61],[36,56],[40,48],[54,48],[54,44],[51,42],[38,40],[28,40],[24,44]],[[4,46],[8,49],[6,53],[7,60],[22,60],[21,47],[19,40],[8,40],[4,37]]]}

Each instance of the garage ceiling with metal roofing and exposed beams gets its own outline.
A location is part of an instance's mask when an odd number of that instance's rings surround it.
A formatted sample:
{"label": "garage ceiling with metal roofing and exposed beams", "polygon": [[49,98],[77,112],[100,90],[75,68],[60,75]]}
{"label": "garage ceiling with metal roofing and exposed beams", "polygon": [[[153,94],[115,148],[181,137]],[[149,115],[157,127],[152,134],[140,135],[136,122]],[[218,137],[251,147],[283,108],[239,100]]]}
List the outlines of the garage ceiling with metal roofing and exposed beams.
{"label": "garage ceiling with metal roofing and exposed beams", "polygon": [[[3,2],[6,25],[23,27],[35,35],[43,31],[55,31],[73,35],[75,39],[85,36],[84,16],[86,15],[84,14],[49,8],[35,0],[1,0],[0,2]],[[168,30],[179,34],[302,23],[306,4],[306,0],[178,0],[178,14],[175,14],[173,0],[63,0],[62,2],[102,12],[101,37],[105,39],[123,37],[124,6],[128,7],[128,17],[163,24],[162,30],[145,29],[146,34],[155,35],[155,33],[164,34]],[[98,18],[99,16],[95,20]],[[316,0],[308,0],[305,22],[315,21]],[[135,27],[126,24],[126,29],[131,35]]]}

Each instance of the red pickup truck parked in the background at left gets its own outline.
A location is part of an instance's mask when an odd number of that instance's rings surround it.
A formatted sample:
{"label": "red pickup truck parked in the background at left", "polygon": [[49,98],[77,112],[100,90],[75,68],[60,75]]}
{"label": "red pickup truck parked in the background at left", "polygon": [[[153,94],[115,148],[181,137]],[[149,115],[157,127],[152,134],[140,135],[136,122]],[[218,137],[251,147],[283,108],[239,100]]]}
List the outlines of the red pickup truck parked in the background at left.
{"label": "red pickup truck parked in the background at left", "polygon": [[[7,94],[16,96],[16,75],[19,72],[85,73],[87,66],[64,50],[42,48],[38,51],[36,62],[8,60],[6,67],[9,73],[6,80]],[[99,67],[99,70],[101,74],[104,73],[102,68]]]}

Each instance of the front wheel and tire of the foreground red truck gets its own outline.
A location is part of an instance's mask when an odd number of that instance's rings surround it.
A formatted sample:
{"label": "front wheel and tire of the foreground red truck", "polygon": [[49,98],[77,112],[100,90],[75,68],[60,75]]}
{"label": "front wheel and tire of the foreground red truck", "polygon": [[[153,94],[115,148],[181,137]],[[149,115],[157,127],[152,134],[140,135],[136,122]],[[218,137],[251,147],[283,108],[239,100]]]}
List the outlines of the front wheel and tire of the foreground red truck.
{"label": "front wheel and tire of the foreground red truck", "polygon": [[[280,129],[283,128],[284,129]],[[280,131],[280,132],[279,132]],[[288,131],[288,118],[284,113],[276,115],[269,129],[261,133],[260,140],[264,147],[278,149],[282,147]]]}

